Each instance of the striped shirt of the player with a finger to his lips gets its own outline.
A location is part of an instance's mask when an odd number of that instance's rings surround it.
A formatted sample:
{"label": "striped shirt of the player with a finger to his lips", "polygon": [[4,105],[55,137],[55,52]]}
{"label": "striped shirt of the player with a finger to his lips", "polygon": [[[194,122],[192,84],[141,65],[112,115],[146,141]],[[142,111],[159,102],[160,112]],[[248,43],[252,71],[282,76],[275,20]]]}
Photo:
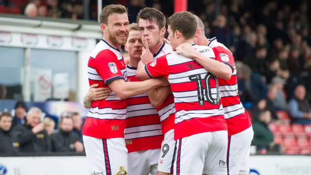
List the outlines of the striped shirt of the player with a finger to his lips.
{"label": "striped shirt of the player with a finger to his lips", "polygon": [[[154,60],[168,53],[173,53],[172,46],[163,42],[160,49],[154,54]],[[162,123],[162,134],[174,129],[175,105],[173,94],[169,95],[160,106],[156,107],[156,110]]]}

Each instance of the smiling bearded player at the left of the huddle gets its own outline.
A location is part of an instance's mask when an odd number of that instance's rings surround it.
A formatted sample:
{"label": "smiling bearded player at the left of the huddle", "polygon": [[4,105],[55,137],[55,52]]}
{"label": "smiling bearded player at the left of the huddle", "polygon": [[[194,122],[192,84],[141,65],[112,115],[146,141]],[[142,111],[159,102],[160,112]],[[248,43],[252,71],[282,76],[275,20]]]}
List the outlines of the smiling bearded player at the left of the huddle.
{"label": "smiling bearded player at the left of the huddle", "polygon": [[120,49],[128,36],[129,22],[122,5],[105,6],[100,14],[103,38],[88,61],[89,84],[110,88],[107,99],[94,101],[82,130],[91,174],[116,175],[128,170],[124,141],[126,99],[163,85],[159,79],[126,82],[127,72]]}

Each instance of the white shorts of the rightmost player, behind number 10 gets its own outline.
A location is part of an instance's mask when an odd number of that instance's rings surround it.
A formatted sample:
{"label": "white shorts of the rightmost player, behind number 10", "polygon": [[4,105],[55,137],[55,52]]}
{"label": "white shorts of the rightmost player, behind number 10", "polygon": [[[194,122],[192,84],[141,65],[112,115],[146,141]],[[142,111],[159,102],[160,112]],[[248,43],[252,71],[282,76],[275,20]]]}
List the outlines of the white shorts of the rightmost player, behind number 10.
{"label": "white shorts of the rightmost player, behind number 10", "polygon": [[249,153],[253,140],[253,127],[229,136],[227,153],[228,175],[248,175],[249,174]]}

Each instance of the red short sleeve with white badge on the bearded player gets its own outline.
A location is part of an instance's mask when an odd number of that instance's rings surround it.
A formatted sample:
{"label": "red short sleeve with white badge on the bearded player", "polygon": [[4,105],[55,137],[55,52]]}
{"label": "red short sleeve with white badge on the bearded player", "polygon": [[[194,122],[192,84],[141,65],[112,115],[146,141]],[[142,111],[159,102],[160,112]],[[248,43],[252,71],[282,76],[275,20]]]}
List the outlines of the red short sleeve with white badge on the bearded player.
{"label": "red short sleeve with white badge on the bearded player", "polygon": [[103,50],[95,57],[96,71],[107,85],[117,79],[124,80],[123,74],[118,67],[118,57],[110,50]]}

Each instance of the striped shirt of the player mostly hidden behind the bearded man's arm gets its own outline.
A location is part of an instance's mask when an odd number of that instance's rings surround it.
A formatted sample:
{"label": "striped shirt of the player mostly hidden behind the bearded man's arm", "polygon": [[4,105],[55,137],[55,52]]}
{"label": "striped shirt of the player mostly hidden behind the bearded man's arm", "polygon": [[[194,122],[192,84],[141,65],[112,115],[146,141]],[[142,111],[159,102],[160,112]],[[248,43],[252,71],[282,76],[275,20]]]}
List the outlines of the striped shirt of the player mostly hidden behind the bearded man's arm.
{"label": "striped shirt of the player mostly hidden behind the bearded man's arm", "polygon": [[[137,68],[126,67],[127,81],[135,82]],[[127,124],[124,139],[128,152],[161,148],[164,139],[160,117],[147,93],[127,99]]]}

